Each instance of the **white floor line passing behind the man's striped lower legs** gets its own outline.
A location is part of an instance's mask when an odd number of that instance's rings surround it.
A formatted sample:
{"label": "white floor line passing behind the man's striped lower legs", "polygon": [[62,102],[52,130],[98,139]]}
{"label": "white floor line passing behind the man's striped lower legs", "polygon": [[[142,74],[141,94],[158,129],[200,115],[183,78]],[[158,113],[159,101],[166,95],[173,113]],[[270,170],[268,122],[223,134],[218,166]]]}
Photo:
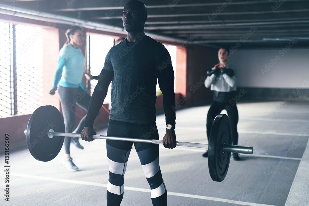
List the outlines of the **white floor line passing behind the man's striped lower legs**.
{"label": "white floor line passing behind the man's striped lower legs", "polygon": [[[59,179],[59,178],[51,178],[51,177],[43,177],[43,176],[29,175],[29,174],[19,174],[19,173],[11,173],[11,175],[18,176],[18,177],[32,178],[32,179],[41,179],[41,180],[63,182],[63,183],[74,183],[74,184],[83,184],[83,185],[98,186],[98,187],[107,187],[107,184],[93,183],[93,182],[86,182],[86,181]],[[138,188],[138,187],[124,187],[124,189],[125,190],[131,190],[131,191],[140,191],[140,192],[150,193],[150,189],[144,189],[144,188]],[[202,199],[202,200],[212,200],[212,201],[217,201],[217,202],[226,202],[226,203],[239,204],[239,205],[269,206],[268,204],[249,203],[249,202],[227,200],[227,199],[216,198],[216,197],[207,197],[207,196],[201,196],[201,195],[190,195],[190,194],[184,194],[184,193],[178,193],[178,192],[167,192],[167,195],[189,197],[189,198],[196,198],[196,199]]]}

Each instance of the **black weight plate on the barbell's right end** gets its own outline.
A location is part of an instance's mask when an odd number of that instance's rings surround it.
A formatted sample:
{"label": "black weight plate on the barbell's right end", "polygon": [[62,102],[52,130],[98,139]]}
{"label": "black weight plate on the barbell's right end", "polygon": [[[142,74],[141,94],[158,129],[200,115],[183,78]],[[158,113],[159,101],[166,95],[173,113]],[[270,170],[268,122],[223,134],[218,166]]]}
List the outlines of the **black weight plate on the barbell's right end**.
{"label": "black weight plate on the barbell's right end", "polygon": [[231,122],[227,115],[219,114],[210,130],[208,168],[211,179],[221,182],[230,165],[231,153],[223,152],[223,144],[231,145]]}

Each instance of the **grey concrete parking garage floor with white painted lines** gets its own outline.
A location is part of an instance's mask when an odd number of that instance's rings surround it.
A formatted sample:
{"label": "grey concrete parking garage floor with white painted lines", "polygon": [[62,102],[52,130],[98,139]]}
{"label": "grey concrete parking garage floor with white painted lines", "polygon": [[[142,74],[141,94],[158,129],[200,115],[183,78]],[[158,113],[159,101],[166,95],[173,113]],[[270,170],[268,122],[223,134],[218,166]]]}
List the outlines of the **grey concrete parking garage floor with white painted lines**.
{"label": "grey concrete parking garage floor with white painted lines", "polygon": [[[177,141],[208,143],[208,109],[209,105],[176,112]],[[210,178],[207,158],[201,156],[205,149],[160,146],[168,205],[309,205],[308,103],[243,102],[238,103],[238,110],[238,144],[253,146],[254,153],[241,154],[241,161],[231,159],[226,178],[220,183]],[[164,115],[157,116],[157,125],[162,139]],[[106,130],[98,133],[106,135]],[[84,150],[71,145],[71,155],[80,168],[77,172],[64,167],[63,148],[50,162],[35,160],[28,148],[11,152],[10,201],[4,200],[2,170],[0,205],[106,205],[105,144],[105,140],[82,142]],[[121,205],[151,205],[149,185],[133,150]],[[4,155],[0,160],[4,162]]]}

